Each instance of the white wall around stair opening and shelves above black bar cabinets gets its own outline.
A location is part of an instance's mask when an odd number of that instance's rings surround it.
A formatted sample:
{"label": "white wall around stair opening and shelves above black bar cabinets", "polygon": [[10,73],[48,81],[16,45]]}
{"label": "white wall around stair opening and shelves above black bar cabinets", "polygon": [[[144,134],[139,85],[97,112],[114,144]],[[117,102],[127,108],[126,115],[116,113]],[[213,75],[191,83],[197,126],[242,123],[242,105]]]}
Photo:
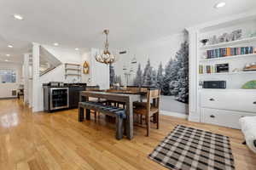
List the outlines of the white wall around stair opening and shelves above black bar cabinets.
{"label": "white wall around stair opening and shelves above black bar cabinets", "polygon": [[[41,45],[50,54],[53,54],[56,59],[59,59],[62,65],[59,65],[54,70],[49,71],[42,77],[38,76],[38,58],[36,53],[38,50],[37,43],[34,43],[33,48],[33,108],[32,111],[44,110],[44,95],[43,95],[43,83],[47,82],[86,82],[89,85],[100,85],[101,88],[109,87],[109,70],[108,65],[96,63],[94,54],[97,49],[92,48],[90,52],[80,53],[74,49],[52,47],[47,45]],[[40,46],[40,45],[39,45]],[[90,64],[90,75],[84,75],[78,79],[78,77],[65,78],[65,63],[79,64],[83,66],[84,60],[87,60]],[[36,65],[36,67],[35,67]],[[82,70],[81,70],[82,71]],[[38,77],[38,80],[37,78]],[[90,81],[89,81],[90,80]]]}

